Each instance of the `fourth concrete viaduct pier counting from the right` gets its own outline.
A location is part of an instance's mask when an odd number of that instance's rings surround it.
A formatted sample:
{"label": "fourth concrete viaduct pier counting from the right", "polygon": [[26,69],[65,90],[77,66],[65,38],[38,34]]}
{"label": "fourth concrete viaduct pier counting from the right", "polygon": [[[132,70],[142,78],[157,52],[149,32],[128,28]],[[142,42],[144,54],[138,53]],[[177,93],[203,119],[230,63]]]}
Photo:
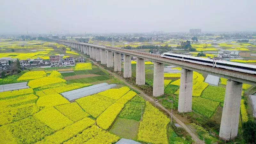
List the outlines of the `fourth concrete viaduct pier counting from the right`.
{"label": "fourth concrete viaduct pier counting from the right", "polygon": [[145,60],[136,58],[136,84],[145,84]]}

